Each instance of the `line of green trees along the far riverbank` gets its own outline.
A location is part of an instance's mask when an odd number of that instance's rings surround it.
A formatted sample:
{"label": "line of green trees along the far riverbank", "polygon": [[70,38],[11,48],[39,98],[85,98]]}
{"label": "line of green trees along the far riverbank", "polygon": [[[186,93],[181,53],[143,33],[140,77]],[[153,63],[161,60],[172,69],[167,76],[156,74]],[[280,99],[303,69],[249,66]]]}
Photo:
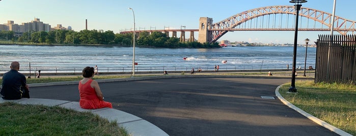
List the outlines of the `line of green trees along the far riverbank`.
{"label": "line of green trees along the far riverbank", "polygon": [[[72,45],[121,45],[133,44],[133,33],[114,33],[112,30],[53,30],[28,31],[17,37],[14,31],[0,31],[0,39],[35,44],[72,44]],[[166,33],[147,31],[136,35],[136,46],[160,48],[219,48],[218,43],[180,42],[179,38],[168,37]]]}

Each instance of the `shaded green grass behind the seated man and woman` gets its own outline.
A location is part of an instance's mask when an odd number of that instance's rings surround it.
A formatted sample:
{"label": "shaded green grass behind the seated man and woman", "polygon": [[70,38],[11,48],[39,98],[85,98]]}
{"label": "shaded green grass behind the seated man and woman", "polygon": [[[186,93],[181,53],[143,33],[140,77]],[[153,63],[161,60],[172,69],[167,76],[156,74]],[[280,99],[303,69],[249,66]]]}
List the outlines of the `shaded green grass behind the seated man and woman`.
{"label": "shaded green grass behind the seated man and woman", "polygon": [[42,105],[0,104],[0,135],[129,135],[116,121],[90,112]]}

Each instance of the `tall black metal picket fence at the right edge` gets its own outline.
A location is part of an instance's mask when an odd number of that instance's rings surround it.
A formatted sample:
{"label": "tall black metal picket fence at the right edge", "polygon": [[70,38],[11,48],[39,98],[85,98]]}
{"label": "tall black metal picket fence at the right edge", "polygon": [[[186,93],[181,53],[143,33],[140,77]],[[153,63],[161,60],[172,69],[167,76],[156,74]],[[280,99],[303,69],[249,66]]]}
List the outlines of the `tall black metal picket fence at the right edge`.
{"label": "tall black metal picket fence at the right edge", "polygon": [[356,81],[356,35],[319,35],[315,82]]}

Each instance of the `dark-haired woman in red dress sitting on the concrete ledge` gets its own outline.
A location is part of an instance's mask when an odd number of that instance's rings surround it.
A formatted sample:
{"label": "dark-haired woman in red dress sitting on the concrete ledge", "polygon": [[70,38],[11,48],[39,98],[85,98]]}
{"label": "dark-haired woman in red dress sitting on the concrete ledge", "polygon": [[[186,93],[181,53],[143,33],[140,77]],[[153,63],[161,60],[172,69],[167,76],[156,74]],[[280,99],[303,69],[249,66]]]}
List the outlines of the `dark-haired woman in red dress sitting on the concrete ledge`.
{"label": "dark-haired woman in red dress sitting on the concrete ledge", "polygon": [[104,101],[98,82],[93,80],[94,67],[85,67],[83,79],[79,81],[79,106],[83,109],[113,108],[111,103]]}

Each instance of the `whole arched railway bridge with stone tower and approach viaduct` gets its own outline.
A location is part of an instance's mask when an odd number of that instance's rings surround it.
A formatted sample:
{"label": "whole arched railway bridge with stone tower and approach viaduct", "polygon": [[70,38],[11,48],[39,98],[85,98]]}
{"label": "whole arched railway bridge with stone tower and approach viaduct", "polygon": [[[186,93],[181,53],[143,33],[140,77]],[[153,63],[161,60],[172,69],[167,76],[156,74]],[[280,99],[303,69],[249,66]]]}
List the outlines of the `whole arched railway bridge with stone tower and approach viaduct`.
{"label": "whole arched railway bridge with stone tower and approach viaduct", "polygon": [[[229,31],[294,31],[294,6],[268,6],[244,11],[228,17],[220,22],[213,23],[209,17],[199,19],[199,29],[161,29],[161,30],[135,30],[136,36],[140,32],[165,32],[167,36],[177,37],[181,32],[180,41],[185,41],[185,32],[190,32],[188,41],[194,41],[194,32],[198,31],[198,42],[216,42]],[[320,10],[302,7],[299,11],[299,31],[330,31],[332,14]],[[291,22],[293,21],[293,22]],[[334,17],[334,31],[347,35],[356,30],[355,21],[339,16]],[[131,33],[133,30],[121,31]]]}

